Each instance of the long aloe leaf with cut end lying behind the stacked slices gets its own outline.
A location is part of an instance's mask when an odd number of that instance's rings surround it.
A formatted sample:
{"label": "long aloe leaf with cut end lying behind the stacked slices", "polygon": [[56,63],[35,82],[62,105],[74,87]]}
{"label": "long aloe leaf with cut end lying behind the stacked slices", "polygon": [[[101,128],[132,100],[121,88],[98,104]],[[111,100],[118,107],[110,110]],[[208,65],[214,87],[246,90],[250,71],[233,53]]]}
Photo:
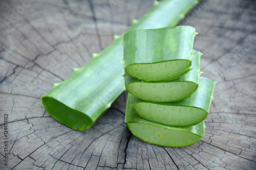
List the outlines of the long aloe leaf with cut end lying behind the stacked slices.
{"label": "long aloe leaf with cut end lying behind the stacked slices", "polygon": [[[134,20],[134,29],[157,29],[175,26],[200,0],[165,0],[140,20]],[[42,96],[42,105],[60,123],[78,130],[87,130],[110,108],[125,90],[122,64],[123,35],[115,36],[110,46],[93,54],[92,60],[74,69],[65,81],[55,84]]]}

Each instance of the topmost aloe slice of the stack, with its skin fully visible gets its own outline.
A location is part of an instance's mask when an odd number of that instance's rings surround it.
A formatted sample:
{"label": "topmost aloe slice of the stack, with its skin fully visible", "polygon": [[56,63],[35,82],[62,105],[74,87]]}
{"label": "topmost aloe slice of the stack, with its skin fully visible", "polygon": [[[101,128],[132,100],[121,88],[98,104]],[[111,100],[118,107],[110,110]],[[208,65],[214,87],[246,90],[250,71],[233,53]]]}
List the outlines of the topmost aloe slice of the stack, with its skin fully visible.
{"label": "topmost aloe slice of the stack, with its skin fully visible", "polygon": [[143,81],[177,79],[189,71],[195,28],[133,30],[123,36],[125,71]]}

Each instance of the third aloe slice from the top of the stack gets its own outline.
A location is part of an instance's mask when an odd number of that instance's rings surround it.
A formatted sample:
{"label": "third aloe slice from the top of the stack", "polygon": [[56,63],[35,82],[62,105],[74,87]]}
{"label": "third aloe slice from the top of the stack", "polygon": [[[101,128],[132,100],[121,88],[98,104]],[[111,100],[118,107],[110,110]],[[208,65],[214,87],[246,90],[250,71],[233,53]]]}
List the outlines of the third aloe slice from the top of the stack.
{"label": "third aloe slice from the top of the stack", "polygon": [[217,82],[200,77],[197,91],[174,103],[151,103],[135,97],[134,110],[143,118],[173,127],[197,125],[208,115]]}

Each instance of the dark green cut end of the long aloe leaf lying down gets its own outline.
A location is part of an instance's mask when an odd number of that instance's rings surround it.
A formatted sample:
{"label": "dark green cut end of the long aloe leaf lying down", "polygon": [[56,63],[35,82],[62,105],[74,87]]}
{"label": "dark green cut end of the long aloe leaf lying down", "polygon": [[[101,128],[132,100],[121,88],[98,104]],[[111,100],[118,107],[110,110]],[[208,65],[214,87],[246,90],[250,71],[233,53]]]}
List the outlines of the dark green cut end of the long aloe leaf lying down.
{"label": "dark green cut end of the long aloe leaf lying down", "polygon": [[93,120],[88,115],[74,110],[51,97],[42,96],[42,105],[61,124],[74,130],[84,131],[93,125]]}

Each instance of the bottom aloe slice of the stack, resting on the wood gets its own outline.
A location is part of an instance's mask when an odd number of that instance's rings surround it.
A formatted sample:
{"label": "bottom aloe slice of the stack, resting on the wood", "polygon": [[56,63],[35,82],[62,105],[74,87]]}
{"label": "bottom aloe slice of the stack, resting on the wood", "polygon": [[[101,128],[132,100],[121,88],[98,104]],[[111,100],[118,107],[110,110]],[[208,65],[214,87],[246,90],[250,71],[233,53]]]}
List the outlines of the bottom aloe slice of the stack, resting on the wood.
{"label": "bottom aloe slice of the stack, resting on the wood", "polygon": [[129,130],[141,140],[163,147],[186,147],[203,139],[204,121],[189,127],[170,127],[140,117],[132,104],[134,96],[129,94],[126,104],[125,123]]}

